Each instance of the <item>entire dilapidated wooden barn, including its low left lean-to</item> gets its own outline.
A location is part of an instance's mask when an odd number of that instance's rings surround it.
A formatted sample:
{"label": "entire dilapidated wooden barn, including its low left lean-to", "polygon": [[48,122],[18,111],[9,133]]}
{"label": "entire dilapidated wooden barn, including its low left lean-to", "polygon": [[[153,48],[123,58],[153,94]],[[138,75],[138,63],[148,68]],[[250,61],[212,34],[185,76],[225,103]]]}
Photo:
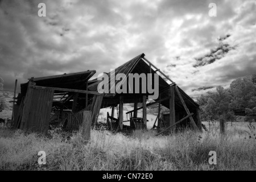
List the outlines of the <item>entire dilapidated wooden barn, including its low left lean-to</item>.
{"label": "entire dilapidated wooden barn, including its low left lean-to", "polygon": [[[174,131],[175,127],[181,126],[176,124],[182,121],[183,125],[201,130],[199,105],[144,56],[142,53],[114,69],[114,75],[112,75],[113,72],[106,73],[109,85],[107,89],[104,89],[109,92],[104,93],[98,92],[98,86],[102,80],[96,78],[89,81],[96,71],[28,79],[27,83],[20,85],[21,93],[16,98],[13,109],[13,127],[47,133],[52,112],[57,113],[56,123],[58,125],[61,123],[65,130],[79,129],[85,113],[90,115],[93,127],[97,124],[100,109],[111,106],[111,115],[105,113],[108,128],[123,130],[126,126],[123,123],[123,104],[132,103],[134,109],[126,113],[130,114],[129,129],[147,129],[146,108],[158,104],[158,117],[154,127]],[[118,73],[123,73],[125,79],[118,80],[116,78]],[[131,73],[138,75],[143,73],[146,80],[133,82],[133,85],[127,82],[127,88],[132,86],[133,92],[119,92],[118,89],[122,89],[122,86],[118,88],[117,85],[120,85],[126,78],[128,79]],[[158,74],[158,84],[155,84],[155,77],[150,76],[150,73]],[[145,81],[151,84],[151,88],[157,87],[159,91],[158,97],[154,100],[150,100],[152,92],[148,90],[143,92],[142,87]],[[135,92],[136,87],[139,88],[137,92]],[[142,106],[138,107],[138,104]],[[160,105],[170,109],[170,112],[161,116]],[[115,108],[118,109],[117,118],[114,118]],[[139,109],[142,109],[141,118],[138,117]]]}

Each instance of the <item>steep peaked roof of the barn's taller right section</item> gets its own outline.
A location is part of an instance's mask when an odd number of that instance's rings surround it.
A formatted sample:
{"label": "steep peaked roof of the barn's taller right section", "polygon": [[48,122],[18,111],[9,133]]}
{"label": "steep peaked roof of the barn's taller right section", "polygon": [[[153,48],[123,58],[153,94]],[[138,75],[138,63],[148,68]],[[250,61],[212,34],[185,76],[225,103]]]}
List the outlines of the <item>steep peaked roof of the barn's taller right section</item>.
{"label": "steep peaked roof of the barn's taller right section", "polygon": [[[138,55],[137,57],[134,57],[130,61],[127,61],[125,64],[119,66],[118,68],[115,69],[115,75],[118,73],[124,73],[126,77],[129,76],[129,73],[138,73],[139,75],[141,73],[157,73],[159,69],[152,69],[151,64],[148,64],[146,59],[144,59],[144,53],[141,55]],[[119,104],[119,95],[117,92],[115,93],[110,93],[110,90],[112,89],[112,86],[110,82],[113,80],[113,77],[110,77],[110,72],[108,72],[109,76],[109,93],[104,95],[103,101],[102,101],[102,107],[109,107],[112,105],[118,105]],[[91,91],[97,91],[98,84],[100,84],[101,80],[94,79],[92,81],[89,81],[90,84],[88,86],[88,89]],[[119,80],[115,81],[115,85]],[[152,77],[152,83],[154,83],[154,77]],[[140,88],[142,82],[140,82]],[[155,101],[163,100],[163,98],[167,98],[169,96],[169,88],[170,85],[167,82],[167,78],[163,78],[159,76],[159,97]],[[189,97],[182,89],[178,87],[181,96],[183,97],[183,100],[185,101],[185,104],[192,108],[192,107],[199,107],[198,104],[196,104],[195,101],[191,97]],[[134,102],[142,102],[142,95],[143,94],[129,94],[129,93],[122,93],[123,97],[123,103],[134,103]],[[150,95],[147,93],[147,95]],[[170,108],[169,106],[169,100],[163,100],[161,102],[163,106],[166,106],[167,108]],[[181,111],[184,110],[183,105],[181,104],[181,101],[179,99],[179,96],[177,96],[177,93],[175,92],[175,110],[176,111]]]}

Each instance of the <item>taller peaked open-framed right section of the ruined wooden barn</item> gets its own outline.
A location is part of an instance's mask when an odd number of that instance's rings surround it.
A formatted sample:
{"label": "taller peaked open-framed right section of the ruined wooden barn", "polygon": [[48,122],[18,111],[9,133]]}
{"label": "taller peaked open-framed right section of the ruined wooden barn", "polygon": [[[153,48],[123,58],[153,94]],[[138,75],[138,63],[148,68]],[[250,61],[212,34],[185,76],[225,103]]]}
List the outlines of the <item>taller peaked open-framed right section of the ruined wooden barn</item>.
{"label": "taller peaked open-framed right section of the ruined wooden barn", "polygon": [[[183,90],[179,88],[175,84],[174,81],[172,81],[168,76],[166,76],[160,69],[155,67],[150,61],[144,57],[144,53],[141,55],[134,57],[134,59],[131,59],[130,61],[126,62],[125,64],[121,65],[120,67],[114,69],[115,76],[118,75],[118,73],[124,73],[128,79],[130,73],[138,73],[141,75],[144,73],[146,75],[146,82],[148,82],[148,79],[151,79],[151,83],[154,86],[158,86],[159,90],[159,96],[156,98],[153,102],[147,104],[147,100],[149,98],[150,93],[142,93],[142,80],[139,82],[139,93],[135,93],[133,90],[133,93],[118,93],[117,89],[115,89],[114,93],[111,93],[111,90],[113,89],[113,84],[111,82],[114,82],[114,86],[117,86],[119,80],[116,80],[114,77],[111,77],[111,72],[108,73],[109,77],[109,92],[107,94],[104,94],[101,108],[112,106],[112,114],[108,114],[107,122],[109,125],[110,130],[119,128],[123,129],[123,104],[129,104],[134,103],[134,110],[131,110],[127,112],[126,114],[131,114],[130,121],[130,127],[135,129],[145,129],[147,128],[147,114],[146,114],[146,107],[154,104],[159,105],[159,111],[158,111],[158,128],[167,128],[171,125],[175,125],[176,122],[178,122],[180,119],[188,116],[186,119],[184,119],[184,123],[188,123],[186,126],[191,126],[194,129],[201,130],[201,120],[200,120],[200,113],[199,113],[199,105],[196,104],[195,101],[191,97],[189,97]],[[154,77],[148,77],[148,73],[157,73],[159,74],[159,84],[154,85]],[[113,80],[115,79],[115,80]],[[123,80],[122,80],[123,81]],[[88,89],[97,92],[98,84],[100,84],[101,80],[94,79],[92,81],[89,81],[90,84],[88,86]],[[170,83],[168,83],[170,82]],[[128,84],[128,82],[127,82]],[[134,82],[135,84],[135,82]],[[127,88],[129,85],[127,85]],[[135,88],[135,85],[133,85],[133,88]],[[142,103],[142,107],[138,108],[138,103]],[[160,105],[163,105],[170,109],[170,113],[168,114],[168,117],[162,117],[160,122]],[[114,110],[115,107],[118,106],[118,118],[114,118]],[[142,109],[143,111],[143,117],[138,118],[137,112],[139,109]],[[156,122],[155,122],[156,123]],[[182,125],[177,125],[182,126]],[[171,130],[175,130],[175,126],[171,127]]]}

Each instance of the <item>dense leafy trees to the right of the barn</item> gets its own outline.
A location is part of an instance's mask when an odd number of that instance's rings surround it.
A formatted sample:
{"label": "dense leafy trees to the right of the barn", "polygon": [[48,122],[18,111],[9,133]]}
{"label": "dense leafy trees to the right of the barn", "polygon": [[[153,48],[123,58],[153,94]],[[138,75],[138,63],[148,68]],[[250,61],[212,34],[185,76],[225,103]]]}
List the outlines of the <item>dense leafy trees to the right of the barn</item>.
{"label": "dense leafy trees to the right of the barn", "polygon": [[244,113],[246,121],[256,121],[256,75],[237,78],[227,89],[217,86],[216,92],[201,95],[197,103],[205,121],[235,121],[235,113]]}

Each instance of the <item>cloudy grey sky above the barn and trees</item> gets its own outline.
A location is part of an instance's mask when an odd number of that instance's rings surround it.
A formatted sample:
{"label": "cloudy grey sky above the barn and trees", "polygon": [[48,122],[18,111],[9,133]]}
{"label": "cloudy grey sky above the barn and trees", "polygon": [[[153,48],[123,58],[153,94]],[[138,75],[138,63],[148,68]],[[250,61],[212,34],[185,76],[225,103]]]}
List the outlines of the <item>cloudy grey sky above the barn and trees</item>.
{"label": "cloudy grey sky above the barn and trees", "polygon": [[256,1],[0,0],[0,17],[5,90],[15,78],[97,76],[141,53],[192,97],[256,72]]}

